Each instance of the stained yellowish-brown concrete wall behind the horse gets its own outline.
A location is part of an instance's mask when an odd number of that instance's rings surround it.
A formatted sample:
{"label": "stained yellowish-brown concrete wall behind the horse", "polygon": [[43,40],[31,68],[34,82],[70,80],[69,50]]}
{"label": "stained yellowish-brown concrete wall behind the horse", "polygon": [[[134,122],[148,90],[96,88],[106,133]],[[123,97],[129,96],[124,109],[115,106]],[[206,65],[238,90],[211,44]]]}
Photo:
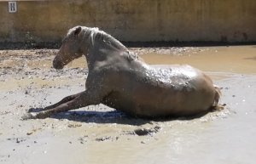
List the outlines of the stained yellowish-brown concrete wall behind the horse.
{"label": "stained yellowish-brown concrete wall behind the horse", "polygon": [[255,0],[68,0],[0,2],[0,42],[61,42],[75,25],[121,41],[256,41]]}

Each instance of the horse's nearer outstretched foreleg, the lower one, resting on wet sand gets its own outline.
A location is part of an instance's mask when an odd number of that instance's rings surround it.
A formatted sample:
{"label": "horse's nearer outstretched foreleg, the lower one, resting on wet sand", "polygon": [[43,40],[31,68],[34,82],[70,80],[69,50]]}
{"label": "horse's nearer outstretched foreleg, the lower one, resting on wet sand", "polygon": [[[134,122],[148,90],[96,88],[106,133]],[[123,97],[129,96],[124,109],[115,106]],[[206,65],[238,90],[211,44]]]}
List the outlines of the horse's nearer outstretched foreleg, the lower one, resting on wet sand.
{"label": "horse's nearer outstretched foreleg, the lower one, resting on wet sand", "polygon": [[[57,113],[61,113],[64,111],[75,110],[75,109],[82,108],[82,107],[88,106],[88,105],[98,105],[101,103],[101,99],[102,99],[102,97],[99,94],[84,91],[83,93],[79,93],[79,95],[76,98],[74,98],[70,101],[67,101],[66,103],[62,103],[61,105],[58,105],[53,109],[39,111],[38,113],[33,113],[33,112],[26,113],[26,115],[22,116],[21,118],[23,120],[46,118],[46,117],[53,116]],[[52,105],[52,106],[54,106],[54,105]]]}

